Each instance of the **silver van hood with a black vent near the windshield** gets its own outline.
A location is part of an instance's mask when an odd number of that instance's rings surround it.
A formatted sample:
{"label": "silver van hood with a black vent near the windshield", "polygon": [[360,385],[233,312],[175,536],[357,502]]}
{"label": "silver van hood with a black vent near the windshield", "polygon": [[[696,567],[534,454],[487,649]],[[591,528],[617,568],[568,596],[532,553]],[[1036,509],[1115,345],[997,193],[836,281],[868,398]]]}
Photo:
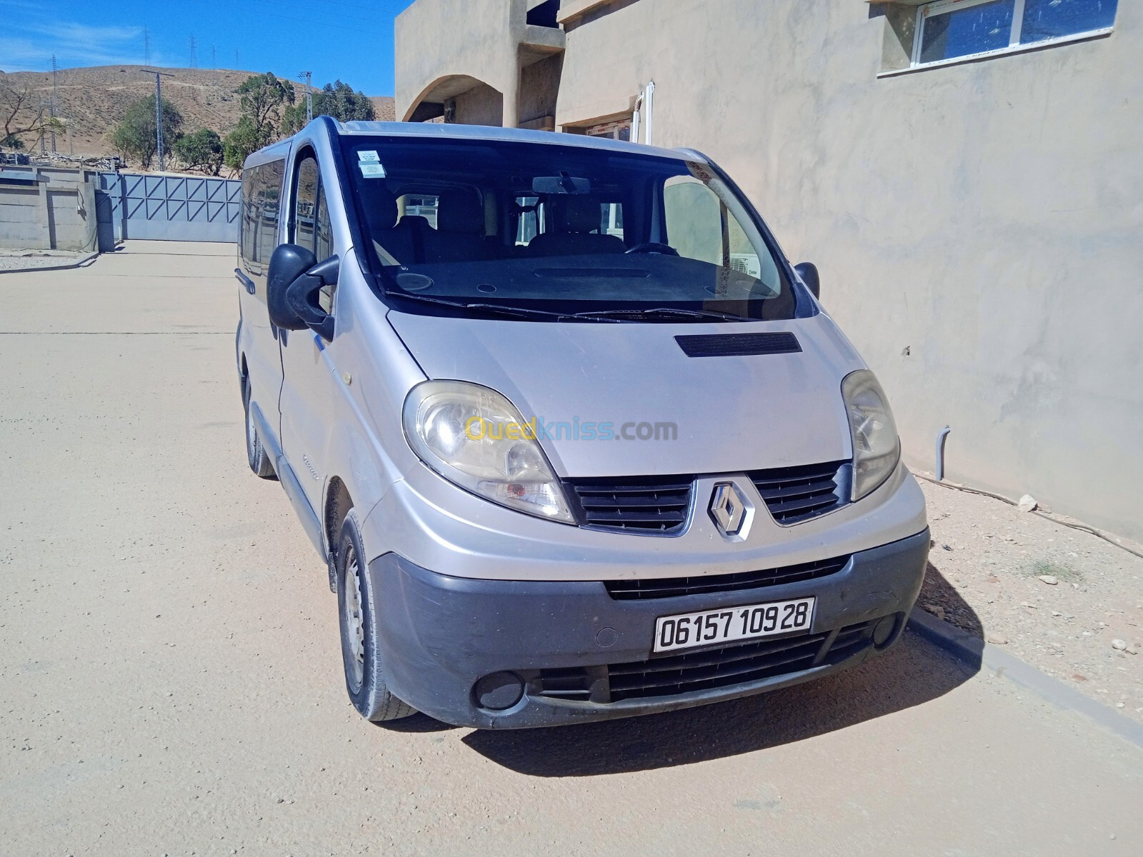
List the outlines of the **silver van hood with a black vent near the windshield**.
{"label": "silver van hood with a black vent near the windshield", "polygon": [[[864,363],[824,313],[712,325],[387,318],[429,378],[483,384],[525,421],[535,417],[560,476],[736,473],[852,457],[841,379]],[[764,331],[792,333],[801,351],[688,357],[674,338]],[[678,436],[661,426],[658,439],[638,439],[656,423],[673,423]],[[636,436],[600,439],[605,424]]]}

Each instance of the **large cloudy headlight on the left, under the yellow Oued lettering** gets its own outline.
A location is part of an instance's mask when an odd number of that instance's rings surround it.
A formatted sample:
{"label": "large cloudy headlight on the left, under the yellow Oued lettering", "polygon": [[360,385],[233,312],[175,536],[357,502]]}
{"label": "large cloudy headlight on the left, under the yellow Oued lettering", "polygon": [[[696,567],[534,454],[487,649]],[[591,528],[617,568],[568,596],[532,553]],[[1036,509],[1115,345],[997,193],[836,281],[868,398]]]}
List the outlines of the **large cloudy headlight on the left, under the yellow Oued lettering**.
{"label": "large cloudy headlight on the left, under the yellow Oued lettering", "polygon": [[426,381],[405,399],[402,421],[413,451],[449,482],[519,512],[575,523],[535,423],[495,390]]}

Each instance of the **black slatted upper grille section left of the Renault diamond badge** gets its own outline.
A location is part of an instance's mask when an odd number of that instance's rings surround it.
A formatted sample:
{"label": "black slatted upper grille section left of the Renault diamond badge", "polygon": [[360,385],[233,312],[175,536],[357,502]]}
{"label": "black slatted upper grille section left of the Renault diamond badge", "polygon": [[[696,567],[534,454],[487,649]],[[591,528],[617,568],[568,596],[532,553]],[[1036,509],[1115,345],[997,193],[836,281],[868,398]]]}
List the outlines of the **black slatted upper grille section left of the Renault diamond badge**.
{"label": "black slatted upper grille section left of the Renault diamond badge", "polygon": [[625,532],[679,532],[687,522],[694,476],[570,479],[584,527]]}

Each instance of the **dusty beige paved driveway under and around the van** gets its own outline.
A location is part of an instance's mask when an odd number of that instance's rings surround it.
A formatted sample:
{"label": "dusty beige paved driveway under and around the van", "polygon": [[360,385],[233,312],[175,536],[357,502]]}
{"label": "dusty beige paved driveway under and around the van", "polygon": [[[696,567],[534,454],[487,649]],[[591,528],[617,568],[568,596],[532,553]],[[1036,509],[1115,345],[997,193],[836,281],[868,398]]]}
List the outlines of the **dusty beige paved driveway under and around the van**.
{"label": "dusty beige paved driveway under and around the van", "polygon": [[0,855],[1138,855],[1143,752],[906,635],[640,720],[361,721],[230,248],[0,274]]}

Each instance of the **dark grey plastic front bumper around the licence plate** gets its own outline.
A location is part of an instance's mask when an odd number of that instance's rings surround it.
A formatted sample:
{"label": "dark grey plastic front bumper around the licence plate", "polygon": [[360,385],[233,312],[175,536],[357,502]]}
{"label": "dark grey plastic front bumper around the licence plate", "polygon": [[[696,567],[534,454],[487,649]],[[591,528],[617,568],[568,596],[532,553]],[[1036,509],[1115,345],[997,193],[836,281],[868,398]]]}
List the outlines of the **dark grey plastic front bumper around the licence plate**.
{"label": "dark grey plastic front bumper around the licence plate", "polygon": [[[369,574],[382,593],[377,633],[392,692],[448,723],[513,729],[734,699],[858,664],[900,636],[928,548],[925,529],[854,553],[840,571],[817,579],[630,601],[614,600],[599,580],[450,577],[394,553],[370,562]],[[817,599],[808,632],[650,656],[658,616],[808,595]],[[882,617],[892,619],[874,643]],[[523,684],[502,711],[480,707],[473,690],[494,673]]]}

